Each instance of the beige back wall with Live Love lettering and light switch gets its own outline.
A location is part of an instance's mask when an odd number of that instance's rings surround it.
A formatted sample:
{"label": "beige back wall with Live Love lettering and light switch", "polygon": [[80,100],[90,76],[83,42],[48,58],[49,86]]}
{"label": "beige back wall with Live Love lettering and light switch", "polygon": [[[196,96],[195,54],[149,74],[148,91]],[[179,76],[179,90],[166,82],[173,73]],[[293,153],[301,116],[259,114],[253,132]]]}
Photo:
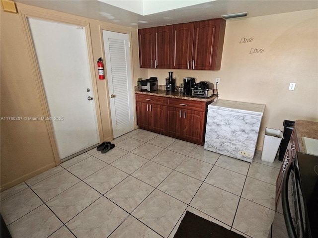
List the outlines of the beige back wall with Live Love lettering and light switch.
{"label": "beige back wall with Live Love lettering and light switch", "polygon": [[[264,128],[283,130],[283,120],[318,121],[318,10],[306,10],[227,21],[221,70],[148,69],[164,84],[173,71],[183,77],[210,81],[220,77],[220,99],[265,104],[257,148]],[[253,38],[239,43],[241,38]],[[263,53],[249,54],[251,48]],[[295,82],[295,91],[288,91]]]}

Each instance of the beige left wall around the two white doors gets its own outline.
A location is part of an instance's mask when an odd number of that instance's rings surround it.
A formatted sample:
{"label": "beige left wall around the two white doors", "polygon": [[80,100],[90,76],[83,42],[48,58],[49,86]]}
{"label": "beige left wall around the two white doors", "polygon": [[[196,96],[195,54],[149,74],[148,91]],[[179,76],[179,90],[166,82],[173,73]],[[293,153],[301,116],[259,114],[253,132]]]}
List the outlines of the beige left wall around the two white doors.
{"label": "beige left wall around the two white doors", "polygon": [[[102,29],[131,35],[133,79],[147,76],[146,70],[140,70],[138,63],[138,32],[136,29],[100,22],[88,18],[69,15],[57,11],[16,3],[18,14],[1,11],[1,117],[44,117],[45,107],[41,101],[41,88],[37,84],[32,56],[27,49],[21,12],[33,11],[55,20],[69,19],[89,24],[91,51],[94,61],[104,58]],[[66,20],[67,21],[67,20]],[[100,137],[112,139],[110,111],[108,104],[107,81],[98,79],[95,67],[94,94],[98,96],[97,105],[101,120]],[[135,76],[136,75],[136,76]],[[132,89],[133,90],[133,89]],[[54,146],[50,140],[50,125],[45,121],[1,120],[1,190],[29,179],[56,166],[59,160],[54,157]],[[51,137],[52,139],[52,137]],[[54,142],[53,142],[54,143]]]}

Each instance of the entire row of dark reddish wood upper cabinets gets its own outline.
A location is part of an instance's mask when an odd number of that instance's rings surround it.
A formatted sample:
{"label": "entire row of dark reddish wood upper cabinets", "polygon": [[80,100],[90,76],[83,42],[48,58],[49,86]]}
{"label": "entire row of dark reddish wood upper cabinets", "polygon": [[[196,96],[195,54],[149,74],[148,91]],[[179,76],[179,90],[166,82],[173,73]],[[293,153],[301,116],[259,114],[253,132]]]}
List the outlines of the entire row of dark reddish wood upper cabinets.
{"label": "entire row of dark reddish wood upper cabinets", "polygon": [[226,20],[139,29],[142,68],[219,70]]}

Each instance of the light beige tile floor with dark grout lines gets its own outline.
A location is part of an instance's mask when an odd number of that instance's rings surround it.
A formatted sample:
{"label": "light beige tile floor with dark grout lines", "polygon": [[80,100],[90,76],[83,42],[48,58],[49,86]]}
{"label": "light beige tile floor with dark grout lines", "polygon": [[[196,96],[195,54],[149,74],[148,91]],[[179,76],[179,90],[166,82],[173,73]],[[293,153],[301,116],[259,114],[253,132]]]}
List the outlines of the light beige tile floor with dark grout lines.
{"label": "light beige tile floor with dark grout lines", "polygon": [[281,166],[253,163],[137,129],[3,191],[13,238],[173,238],[188,210],[267,238]]}

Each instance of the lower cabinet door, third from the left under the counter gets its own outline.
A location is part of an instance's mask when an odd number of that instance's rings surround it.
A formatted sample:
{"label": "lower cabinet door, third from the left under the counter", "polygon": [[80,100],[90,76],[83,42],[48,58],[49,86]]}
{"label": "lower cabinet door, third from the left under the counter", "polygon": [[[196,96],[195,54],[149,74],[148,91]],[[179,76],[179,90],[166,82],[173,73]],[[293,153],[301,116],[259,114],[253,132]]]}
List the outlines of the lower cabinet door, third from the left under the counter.
{"label": "lower cabinet door, third from the left under the counter", "polygon": [[181,136],[181,114],[180,108],[166,107],[166,128],[169,135]]}

